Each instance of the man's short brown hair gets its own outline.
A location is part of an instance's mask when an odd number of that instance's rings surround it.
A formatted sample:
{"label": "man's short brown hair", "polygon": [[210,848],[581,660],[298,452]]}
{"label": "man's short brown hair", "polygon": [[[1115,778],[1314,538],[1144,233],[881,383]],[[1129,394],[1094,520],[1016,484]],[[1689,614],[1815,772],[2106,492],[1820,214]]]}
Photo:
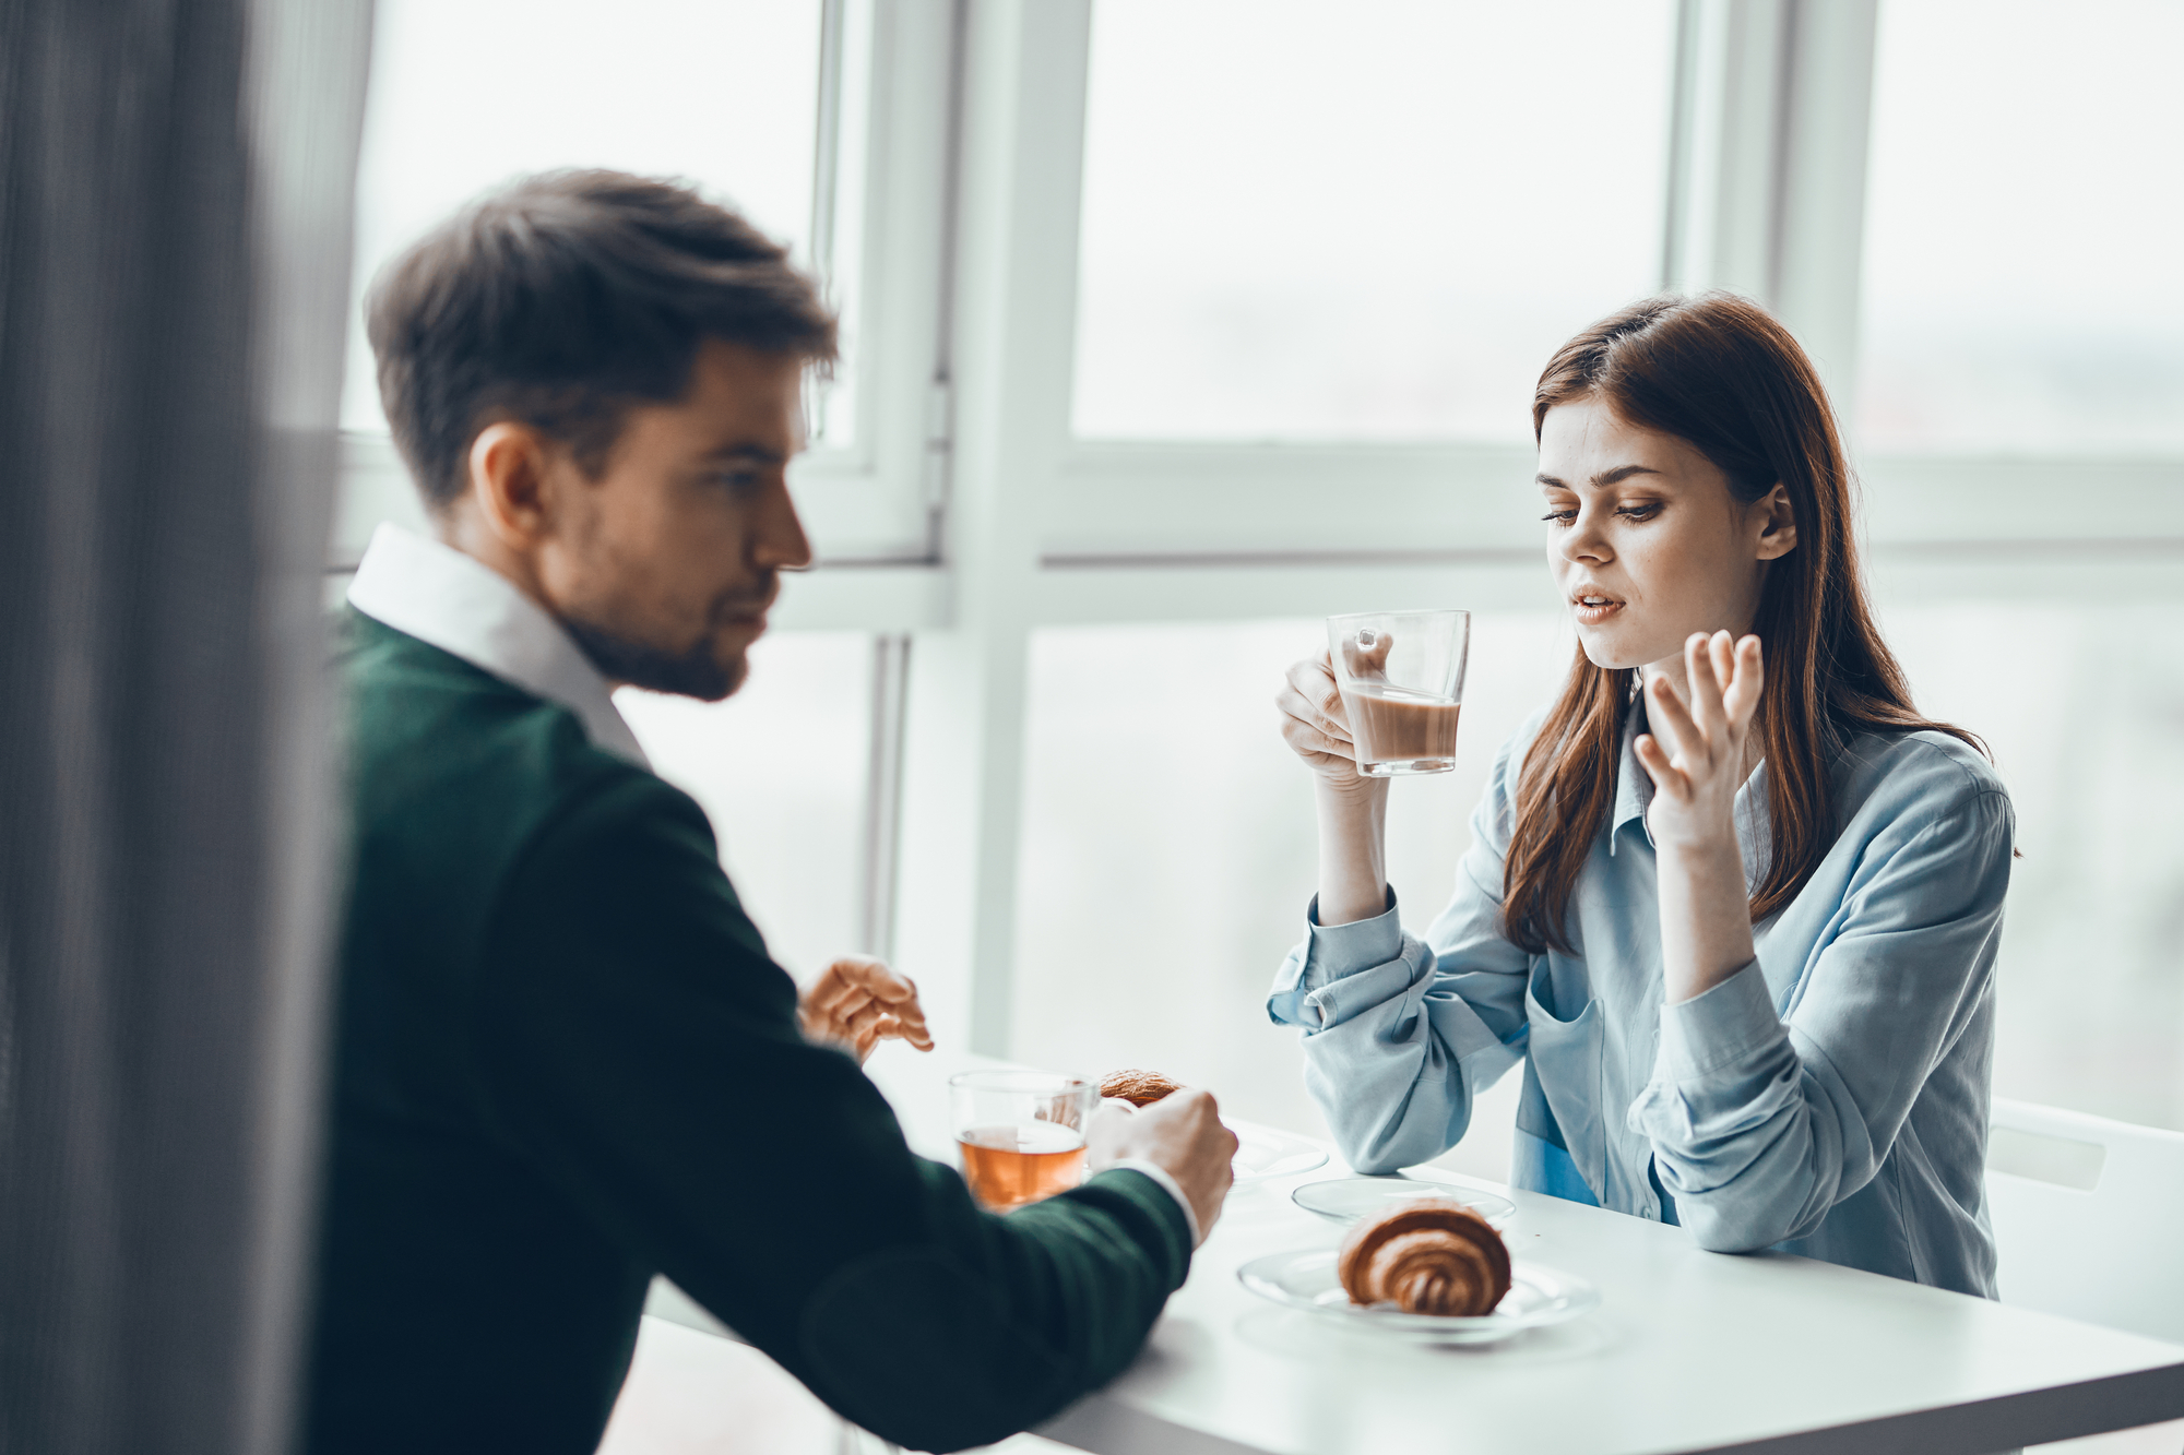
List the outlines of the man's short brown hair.
{"label": "man's short brown hair", "polygon": [[605,170],[524,177],[395,258],[365,299],[395,446],[439,511],[470,443],[520,419],[607,465],[631,404],[690,387],[705,339],[834,360],[834,315],[788,253],[686,186]]}

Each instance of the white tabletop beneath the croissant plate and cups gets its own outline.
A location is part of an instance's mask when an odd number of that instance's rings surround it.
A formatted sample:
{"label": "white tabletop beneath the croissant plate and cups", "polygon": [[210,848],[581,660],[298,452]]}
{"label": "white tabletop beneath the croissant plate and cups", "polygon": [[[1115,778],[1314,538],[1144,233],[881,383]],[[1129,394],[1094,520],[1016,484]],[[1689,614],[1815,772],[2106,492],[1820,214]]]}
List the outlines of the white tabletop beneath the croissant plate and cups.
{"label": "white tabletop beneath the croissant plate and cups", "polygon": [[[911,1143],[952,1156],[946,1077],[887,1046],[871,1073]],[[1590,1278],[1601,1309],[1487,1350],[1328,1328],[1236,1267],[1341,1230],[1289,1202],[1341,1162],[1238,1188],[1144,1355],[1040,1433],[1099,1455],[1981,1455],[2184,1416],[2184,1346],[1778,1254],[1492,1182],[1516,1256]]]}

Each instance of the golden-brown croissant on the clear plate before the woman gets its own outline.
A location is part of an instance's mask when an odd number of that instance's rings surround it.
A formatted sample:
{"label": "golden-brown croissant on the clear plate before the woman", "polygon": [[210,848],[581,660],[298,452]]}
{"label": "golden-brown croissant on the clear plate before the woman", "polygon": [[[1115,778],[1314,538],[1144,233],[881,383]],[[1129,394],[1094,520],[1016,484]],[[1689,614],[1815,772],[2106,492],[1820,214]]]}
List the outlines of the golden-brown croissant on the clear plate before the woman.
{"label": "golden-brown croissant on the clear plate before the woman", "polygon": [[1509,1247],[1461,1202],[1406,1202],[1350,1230],[1334,1271],[1354,1304],[1474,1317],[1509,1291]]}

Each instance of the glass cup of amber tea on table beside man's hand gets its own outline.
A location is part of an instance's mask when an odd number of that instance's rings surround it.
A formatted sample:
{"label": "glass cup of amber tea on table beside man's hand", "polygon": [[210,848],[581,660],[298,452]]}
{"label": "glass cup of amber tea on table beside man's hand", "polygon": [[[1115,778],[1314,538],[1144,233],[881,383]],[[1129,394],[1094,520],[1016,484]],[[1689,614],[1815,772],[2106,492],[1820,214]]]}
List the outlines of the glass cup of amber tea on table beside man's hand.
{"label": "glass cup of amber tea on table beside man's hand", "polygon": [[989,1212],[1066,1193],[1085,1180],[1085,1127],[1099,1086],[1051,1070],[965,1070],[948,1077],[957,1158]]}

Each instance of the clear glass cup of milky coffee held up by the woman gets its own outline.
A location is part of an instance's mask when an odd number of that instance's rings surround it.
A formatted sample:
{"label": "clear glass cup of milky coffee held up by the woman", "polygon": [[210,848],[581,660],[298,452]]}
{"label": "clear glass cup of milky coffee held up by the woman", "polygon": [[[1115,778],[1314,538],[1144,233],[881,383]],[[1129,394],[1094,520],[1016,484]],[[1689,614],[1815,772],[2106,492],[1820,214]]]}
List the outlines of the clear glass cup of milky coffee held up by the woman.
{"label": "clear glass cup of milky coffee held up by the woman", "polygon": [[1358,612],[1328,618],[1328,658],[1343,693],[1358,773],[1446,773],[1457,767],[1470,612]]}

